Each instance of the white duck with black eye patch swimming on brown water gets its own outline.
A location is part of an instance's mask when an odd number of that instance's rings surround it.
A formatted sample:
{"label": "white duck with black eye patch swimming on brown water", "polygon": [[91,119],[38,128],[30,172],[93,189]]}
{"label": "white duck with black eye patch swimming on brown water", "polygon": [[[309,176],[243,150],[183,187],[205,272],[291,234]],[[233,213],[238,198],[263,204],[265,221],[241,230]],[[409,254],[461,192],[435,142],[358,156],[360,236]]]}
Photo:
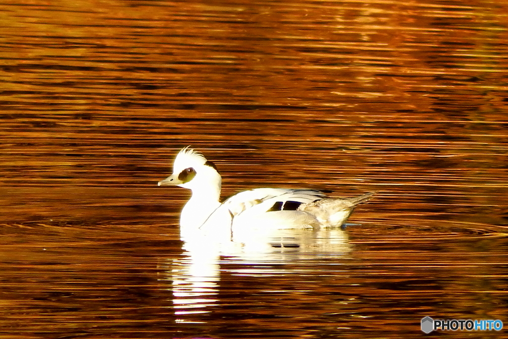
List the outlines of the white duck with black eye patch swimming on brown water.
{"label": "white duck with black eye patch swimming on brown water", "polygon": [[240,192],[223,202],[221,177],[215,165],[185,147],[173,164],[173,174],[158,186],[180,186],[192,191],[180,215],[181,227],[230,229],[319,228],[341,226],[360,203],[375,192],[350,198],[327,198],[309,189],[262,188]]}

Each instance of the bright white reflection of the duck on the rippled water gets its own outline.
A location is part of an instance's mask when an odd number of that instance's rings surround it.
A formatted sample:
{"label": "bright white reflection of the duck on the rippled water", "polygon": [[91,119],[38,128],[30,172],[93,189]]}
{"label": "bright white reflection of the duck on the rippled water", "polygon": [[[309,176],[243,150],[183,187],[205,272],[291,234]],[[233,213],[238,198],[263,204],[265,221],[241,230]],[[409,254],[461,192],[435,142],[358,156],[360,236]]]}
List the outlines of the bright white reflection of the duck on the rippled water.
{"label": "bright white reflection of the duck on the rippled water", "polygon": [[[320,258],[323,254],[351,252],[347,233],[340,229],[235,231],[207,233],[195,230],[181,233],[182,258],[172,261],[167,272],[172,281],[173,307],[177,322],[200,323],[197,317],[213,312],[219,305],[220,273],[274,274],[260,263],[284,263]],[[223,259],[221,259],[223,258]],[[241,263],[228,269],[228,262]],[[238,267],[238,265],[235,265]],[[280,269],[277,269],[280,273]]]}

